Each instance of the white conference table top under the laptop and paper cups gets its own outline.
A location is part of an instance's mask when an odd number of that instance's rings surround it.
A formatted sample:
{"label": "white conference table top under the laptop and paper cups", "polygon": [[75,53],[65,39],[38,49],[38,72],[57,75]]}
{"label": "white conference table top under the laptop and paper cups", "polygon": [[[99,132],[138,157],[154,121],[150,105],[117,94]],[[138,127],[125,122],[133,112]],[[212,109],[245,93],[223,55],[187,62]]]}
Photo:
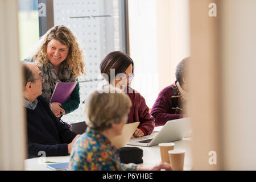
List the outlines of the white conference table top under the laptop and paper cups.
{"label": "white conference table top under the laptop and paper cups", "polygon": [[[158,132],[160,127],[155,127],[154,132]],[[177,140],[172,143],[175,143],[175,149],[185,150],[185,158],[184,158],[184,171],[190,171],[192,169],[192,149],[191,149],[192,138],[187,137],[182,140]],[[127,145],[127,147],[132,147]],[[141,147],[137,146],[143,150],[143,163],[142,167],[151,168],[156,164],[161,163],[160,149],[159,146],[151,146],[151,147]],[[51,156],[51,157],[39,157],[26,159],[24,161],[25,170],[32,171],[51,171],[51,169],[47,168],[47,162],[55,162],[55,163],[65,163],[69,162],[69,156]]]}

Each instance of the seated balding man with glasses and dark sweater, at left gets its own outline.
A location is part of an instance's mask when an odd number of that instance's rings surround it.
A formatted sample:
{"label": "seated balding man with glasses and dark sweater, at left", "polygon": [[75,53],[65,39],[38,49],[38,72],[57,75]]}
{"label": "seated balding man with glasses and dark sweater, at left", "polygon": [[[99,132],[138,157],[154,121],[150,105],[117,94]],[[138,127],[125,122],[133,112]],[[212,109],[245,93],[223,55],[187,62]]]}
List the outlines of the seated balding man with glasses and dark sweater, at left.
{"label": "seated balding man with glasses and dark sweater, at left", "polygon": [[24,106],[27,111],[28,158],[63,156],[71,153],[73,143],[80,135],[67,129],[48,107],[41,96],[44,78],[33,63],[23,63]]}

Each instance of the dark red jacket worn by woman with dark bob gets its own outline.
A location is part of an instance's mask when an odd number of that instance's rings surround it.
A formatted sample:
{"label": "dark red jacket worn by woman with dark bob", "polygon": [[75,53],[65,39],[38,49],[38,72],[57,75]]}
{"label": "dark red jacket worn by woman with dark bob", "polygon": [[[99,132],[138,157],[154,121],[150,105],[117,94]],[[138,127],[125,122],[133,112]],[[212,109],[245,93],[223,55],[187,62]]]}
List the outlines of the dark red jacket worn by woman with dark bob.
{"label": "dark red jacket worn by woman with dark bob", "polygon": [[145,99],[137,91],[127,87],[127,95],[130,97],[133,106],[129,113],[129,123],[139,121],[139,127],[144,135],[150,135],[155,127],[155,118],[148,112]]}

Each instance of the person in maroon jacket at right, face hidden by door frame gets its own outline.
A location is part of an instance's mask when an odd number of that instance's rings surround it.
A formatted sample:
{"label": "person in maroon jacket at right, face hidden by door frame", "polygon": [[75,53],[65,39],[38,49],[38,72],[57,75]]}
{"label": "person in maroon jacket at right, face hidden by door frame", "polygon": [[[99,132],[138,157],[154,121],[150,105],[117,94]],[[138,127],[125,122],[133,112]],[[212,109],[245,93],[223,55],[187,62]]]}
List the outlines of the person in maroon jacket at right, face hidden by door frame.
{"label": "person in maroon jacket at right, face hidden by door frame", "polygon": [[167,121],[187,117],[187,62],[189,57],[180,61],[176,67],[176,81],[164,88],[158,95],[150,114],[155,118],[156,126]]}

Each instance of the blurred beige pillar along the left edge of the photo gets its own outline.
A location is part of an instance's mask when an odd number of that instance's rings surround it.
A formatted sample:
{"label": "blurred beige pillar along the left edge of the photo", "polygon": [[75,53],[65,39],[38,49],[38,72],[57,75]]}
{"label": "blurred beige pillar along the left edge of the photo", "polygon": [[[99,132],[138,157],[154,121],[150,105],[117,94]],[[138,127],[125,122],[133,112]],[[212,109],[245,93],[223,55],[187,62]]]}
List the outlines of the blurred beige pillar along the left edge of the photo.
{"label": "blurred beige pillar along the left edge of the photo", "polygon": [[16,0],[0,0],[0,40],[0,170],[22,170],[27,144]]}

